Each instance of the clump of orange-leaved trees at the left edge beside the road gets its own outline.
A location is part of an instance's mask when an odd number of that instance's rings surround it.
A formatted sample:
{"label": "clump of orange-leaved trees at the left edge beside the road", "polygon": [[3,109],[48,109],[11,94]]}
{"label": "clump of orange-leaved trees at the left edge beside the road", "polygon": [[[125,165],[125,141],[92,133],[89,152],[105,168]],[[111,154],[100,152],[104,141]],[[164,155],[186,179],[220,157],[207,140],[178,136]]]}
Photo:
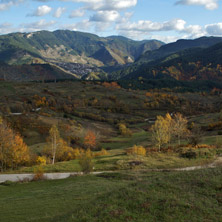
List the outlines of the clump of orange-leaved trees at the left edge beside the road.
{"label": "clump of orange-leaved trees at the left edge beside the road", "polygon": [[0,117],[0,170],[16,169],[29,161],[29,148],[23,138]]}

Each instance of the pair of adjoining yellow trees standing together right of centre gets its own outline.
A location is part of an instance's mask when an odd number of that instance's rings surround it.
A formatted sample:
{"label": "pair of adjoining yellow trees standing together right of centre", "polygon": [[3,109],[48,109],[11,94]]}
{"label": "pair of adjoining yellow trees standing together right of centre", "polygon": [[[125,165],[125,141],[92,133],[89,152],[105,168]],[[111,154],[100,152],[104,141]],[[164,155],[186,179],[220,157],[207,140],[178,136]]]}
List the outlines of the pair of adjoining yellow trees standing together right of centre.
{"label": "pair of adjoining yellow trees standing together right of centre", "polygon": [[189,132],[187,129],[187,119],[180,113],[173,117],[169,113],[165,117],[157,116],[155,124],[151,127],[152,139],[159,151],[164,144],[170,144],[173,138],[176,138],[178,144],[181,144],[181,138]]}

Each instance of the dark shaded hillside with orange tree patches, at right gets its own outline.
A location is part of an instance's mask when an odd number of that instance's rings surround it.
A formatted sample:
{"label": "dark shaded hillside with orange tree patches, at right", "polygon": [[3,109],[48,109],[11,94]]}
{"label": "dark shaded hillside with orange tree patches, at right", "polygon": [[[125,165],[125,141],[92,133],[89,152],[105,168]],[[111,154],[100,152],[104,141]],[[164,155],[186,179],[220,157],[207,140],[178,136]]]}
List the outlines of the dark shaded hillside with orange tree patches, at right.
{"label": "dark shaded hillside with orange tree patches, at right", "polygon": [[221,61],[222,43],[218,43],[209,48],[182,50],[153,62],[134,64],[113,75],[122,79],[221,80]]}

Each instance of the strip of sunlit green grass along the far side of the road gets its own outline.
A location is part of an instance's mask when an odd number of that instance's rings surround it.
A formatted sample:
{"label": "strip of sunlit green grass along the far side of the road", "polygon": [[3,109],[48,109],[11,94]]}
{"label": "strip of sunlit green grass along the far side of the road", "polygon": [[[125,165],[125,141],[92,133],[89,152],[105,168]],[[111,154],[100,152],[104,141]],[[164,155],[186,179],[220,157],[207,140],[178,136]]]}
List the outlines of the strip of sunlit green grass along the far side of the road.
{"label": "strip of sunlit green grass along the far side of the road", "polygon": [[[221,150],[221,149],[220,149]],[[118,171],[129,169],[172,169],[190,166],[199,166],[211,163],[214,156],[199,157],[196,159],[181,158],[178,153],[152,153],[146,157],[126,155],[124,150],[111,150],[107,156],[93,158],[94,171]],[[133,166],[133,162],[139,161],[138,166]],[[33,173],[37,166],[22,167],[18,170],[7,171],[7,173]],[[49,172],[80,172],[79,160],[58,162],[54,165],[42,166],[45,173]]]}

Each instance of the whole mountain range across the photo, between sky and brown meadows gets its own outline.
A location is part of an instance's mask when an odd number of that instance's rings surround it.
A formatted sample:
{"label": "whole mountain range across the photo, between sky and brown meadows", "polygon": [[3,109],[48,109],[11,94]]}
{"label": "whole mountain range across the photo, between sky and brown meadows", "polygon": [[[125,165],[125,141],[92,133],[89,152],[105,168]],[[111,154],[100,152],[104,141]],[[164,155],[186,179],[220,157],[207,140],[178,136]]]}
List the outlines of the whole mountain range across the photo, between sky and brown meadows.
{"label": "whole mountain range across the photo, between sky and brown meadows", "polygon": [[57,30],[0,36],[0,78],[221,80],[222,38],[165,44]]}

